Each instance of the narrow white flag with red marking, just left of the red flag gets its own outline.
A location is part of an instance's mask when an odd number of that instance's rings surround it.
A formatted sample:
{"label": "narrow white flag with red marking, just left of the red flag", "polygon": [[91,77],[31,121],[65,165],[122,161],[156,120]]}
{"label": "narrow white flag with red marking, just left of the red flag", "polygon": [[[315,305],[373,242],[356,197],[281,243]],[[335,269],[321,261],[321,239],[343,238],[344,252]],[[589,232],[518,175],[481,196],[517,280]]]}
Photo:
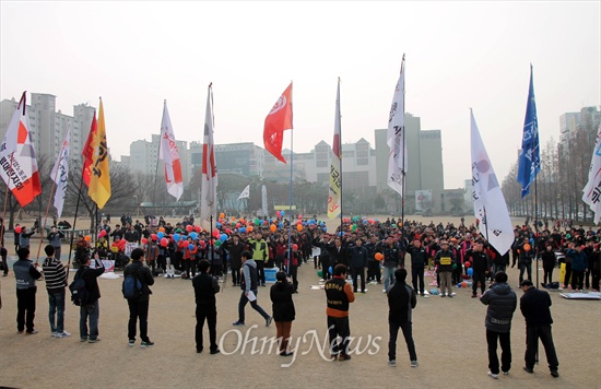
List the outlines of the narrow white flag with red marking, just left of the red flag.
{"label": "narrow white flag with red marking, just left of the red flag", "polygon": [[204,116],[204,140],[202,144],[202,187],[200,192],[200,217],[209,220],[217,215],[217,166],[213,143],[213,89],[209,84],[207,113]]}

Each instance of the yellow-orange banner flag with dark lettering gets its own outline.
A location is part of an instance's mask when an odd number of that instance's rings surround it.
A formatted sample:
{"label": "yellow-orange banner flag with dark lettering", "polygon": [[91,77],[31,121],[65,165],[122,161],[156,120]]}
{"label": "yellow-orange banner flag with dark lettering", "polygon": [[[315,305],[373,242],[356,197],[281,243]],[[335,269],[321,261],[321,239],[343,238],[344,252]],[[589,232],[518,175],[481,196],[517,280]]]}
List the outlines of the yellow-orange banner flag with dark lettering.
{"label": "yellow-orange banner flag with dark lettering", "polygon": [[108,167],[108,144],[106,142],[106,128],[104,122],[103,99],[98,108],[98,128],[94,137],[94,160],[92,161],[92,177],[87,196],[102,210],[110,199],[110,174]]}

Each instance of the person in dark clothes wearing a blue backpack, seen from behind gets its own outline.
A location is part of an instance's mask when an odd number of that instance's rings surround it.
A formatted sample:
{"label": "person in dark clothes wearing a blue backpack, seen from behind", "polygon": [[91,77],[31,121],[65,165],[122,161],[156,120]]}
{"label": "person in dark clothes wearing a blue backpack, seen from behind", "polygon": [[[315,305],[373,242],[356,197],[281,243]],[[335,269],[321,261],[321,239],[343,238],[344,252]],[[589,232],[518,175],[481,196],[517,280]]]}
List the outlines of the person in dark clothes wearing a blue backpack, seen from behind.
{"label": "person in dark clothes wearing a blue backpack, seen from behind", "polygon": [[135,344],[135,322],[139,320],[140,339],[142,340],[140,346],[142,349],[145,349],[148,346],[154,345],[154,342],[151,342],[148,335],[149,303],[150,295],[152,294],[149,286],[154,284],[154,278],[152,276],[150,269],[143,263],[143,249],[134,248],[131,251],[130,257],[131,263],[129,263],[123,270],[123,296],[130,293],[126,291],[125,287],[128,278],[134,278],[135,282],[133,283],[133,285],[138,285],[140,287],[138,290],[138,286],[135,286],[137,291],[133,293],[133,296],[126,297],[129,307],[128,344],[130,346],[133,346]]}

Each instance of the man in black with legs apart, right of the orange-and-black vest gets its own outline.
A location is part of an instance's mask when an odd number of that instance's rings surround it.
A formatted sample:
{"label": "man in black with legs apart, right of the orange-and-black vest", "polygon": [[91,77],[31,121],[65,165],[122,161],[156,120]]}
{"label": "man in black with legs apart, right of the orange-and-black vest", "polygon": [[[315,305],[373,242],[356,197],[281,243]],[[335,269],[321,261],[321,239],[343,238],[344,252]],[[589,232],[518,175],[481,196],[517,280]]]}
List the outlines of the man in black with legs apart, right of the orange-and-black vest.
{"label": "man in black with legs apart, right of the orange-and-black vest", "polygon": [[411,367],[417,367],[417,354],[415,354],[411,327],[411,311],[417,305],[417,298],[415,297],[415,291],[405,284],[405,269],[394,270],[394,279],[397,282],[388,291],[388,327],[390,330],[388,365],[391,367],[397,366],[397,335],[399,334],[399,328],[401,328],[409,350]]}

